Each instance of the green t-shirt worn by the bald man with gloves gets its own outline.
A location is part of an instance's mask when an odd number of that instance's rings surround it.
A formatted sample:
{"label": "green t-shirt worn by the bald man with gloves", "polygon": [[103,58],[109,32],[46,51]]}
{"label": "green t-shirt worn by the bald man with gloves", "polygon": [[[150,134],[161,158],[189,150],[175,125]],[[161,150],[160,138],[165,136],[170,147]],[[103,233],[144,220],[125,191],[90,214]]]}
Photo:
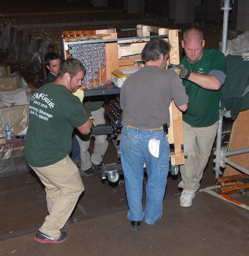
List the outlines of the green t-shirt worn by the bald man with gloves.
{"label": "green t-shirt worn by the bald man with gloves", "polygon": [[[203,49],[200,61],[190,64],[186,56],[180,63],[195,73],[208,75],[211,70],[226,73],[226,61],[222,52],[215,49]],[[189,96],[189,107],[183,113],[183,121],[194,127],[208,127],[219,120],[220,90],[207,90],[191,81],[183,79],[186,93]]]}

